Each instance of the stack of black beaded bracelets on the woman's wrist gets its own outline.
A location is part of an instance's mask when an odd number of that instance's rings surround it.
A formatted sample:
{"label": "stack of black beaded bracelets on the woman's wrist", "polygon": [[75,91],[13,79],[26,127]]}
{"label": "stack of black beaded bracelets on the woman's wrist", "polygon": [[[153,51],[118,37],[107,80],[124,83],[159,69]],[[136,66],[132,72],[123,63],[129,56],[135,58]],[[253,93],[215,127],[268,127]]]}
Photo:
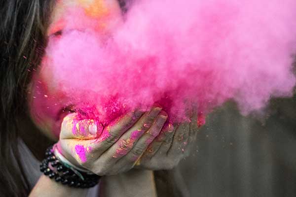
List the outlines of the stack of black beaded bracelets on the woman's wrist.
{"label": "stack of black beaded bracelets on the woman's wrist", "polygon": [[100,176],[79,171],[68,164],[62,164],[54,155],[52,147],[46,150],[45,157],[40,164],[40,171],[56,182],[74,188],[91,188],[99,183]]}

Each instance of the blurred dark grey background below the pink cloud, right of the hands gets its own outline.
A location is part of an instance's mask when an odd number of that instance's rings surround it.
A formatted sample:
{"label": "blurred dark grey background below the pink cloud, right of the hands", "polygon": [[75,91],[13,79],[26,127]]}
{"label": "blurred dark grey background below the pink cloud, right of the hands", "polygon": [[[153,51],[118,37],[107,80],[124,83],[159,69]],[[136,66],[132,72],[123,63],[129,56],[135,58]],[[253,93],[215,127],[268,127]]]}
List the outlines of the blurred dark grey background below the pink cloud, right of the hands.
{"label": "blurred dark grey background below the pink cloud, right of the hands", "polygon": [[226,103],[179,167],[192,197],[296,197],[296,96],[259,119]]}

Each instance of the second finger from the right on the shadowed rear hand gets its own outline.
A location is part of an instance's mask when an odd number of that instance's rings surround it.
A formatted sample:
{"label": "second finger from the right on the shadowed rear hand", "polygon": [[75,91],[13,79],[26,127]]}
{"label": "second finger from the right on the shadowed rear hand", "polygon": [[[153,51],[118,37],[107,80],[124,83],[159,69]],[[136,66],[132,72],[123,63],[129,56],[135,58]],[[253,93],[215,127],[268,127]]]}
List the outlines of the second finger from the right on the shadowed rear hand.
{"label": "second finger from the right on the shadowed rear hand", "polygon": [[189,123],[182,123],[175,132],[173,137],[173,142],[168,151],[168,156],[175,157],[180,155],[180,153],[185,152],[185,147],[188,143],[189,137]]}

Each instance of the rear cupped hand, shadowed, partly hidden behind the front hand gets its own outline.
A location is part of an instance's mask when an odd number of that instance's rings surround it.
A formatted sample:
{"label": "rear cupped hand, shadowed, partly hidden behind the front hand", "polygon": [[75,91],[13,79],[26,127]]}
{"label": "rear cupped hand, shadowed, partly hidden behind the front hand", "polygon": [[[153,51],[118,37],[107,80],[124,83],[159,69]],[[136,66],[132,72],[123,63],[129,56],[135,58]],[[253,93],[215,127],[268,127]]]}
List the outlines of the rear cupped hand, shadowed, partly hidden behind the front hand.
{"label": "rear cupped hand, shadowed, partly hidden behind the front hand", "polygon": [[151,170],[172,169],[187,157],[190,146],[196,139],[198,125],[196,117],[173,127],[165,126],[148,146],[135,167]]}

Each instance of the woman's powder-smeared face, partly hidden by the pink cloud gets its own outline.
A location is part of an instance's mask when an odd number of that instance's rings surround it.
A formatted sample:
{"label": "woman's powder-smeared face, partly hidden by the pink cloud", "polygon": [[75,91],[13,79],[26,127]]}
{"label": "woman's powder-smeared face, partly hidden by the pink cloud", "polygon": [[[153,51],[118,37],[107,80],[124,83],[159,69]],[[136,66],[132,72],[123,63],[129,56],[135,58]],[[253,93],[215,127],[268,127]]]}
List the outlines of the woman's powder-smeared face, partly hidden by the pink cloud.
{"label": "woman's powder-smeared face, partly hidden by the pink cloud", "polygon": [[[83,12],[84,22],[89,20],[96,23],[69,23],[75,21],[75,10]],[[117,0],[57,0],[46,36],[59,39],[64,31],[92,29],[104,39],[122,21],[121,17]],[[59,92],[57,84],[51,80],[53,69],[50,59],[45,54],[41,66],[35,71],[29,86],[28,101],[31,117],[38,128],[50,138],[58,139],[61,122],[75,103]]]}

